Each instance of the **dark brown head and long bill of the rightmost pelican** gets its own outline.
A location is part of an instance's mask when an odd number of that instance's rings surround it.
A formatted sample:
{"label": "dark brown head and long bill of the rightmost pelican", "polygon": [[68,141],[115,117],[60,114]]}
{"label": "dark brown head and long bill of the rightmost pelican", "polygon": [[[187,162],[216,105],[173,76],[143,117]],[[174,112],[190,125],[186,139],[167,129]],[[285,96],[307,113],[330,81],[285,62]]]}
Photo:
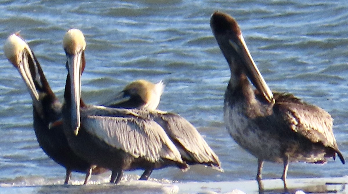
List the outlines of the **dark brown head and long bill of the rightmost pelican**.
{"label": "dark brown head and long bill of the rightmost pelican", "polygon": [[216,11],[211,17],[210,26],[230,66],[230,84],[238,83],[238,77],[244,73],[264,98],[274,103],[273,94],[256,67],[236,20],[228,14]]}

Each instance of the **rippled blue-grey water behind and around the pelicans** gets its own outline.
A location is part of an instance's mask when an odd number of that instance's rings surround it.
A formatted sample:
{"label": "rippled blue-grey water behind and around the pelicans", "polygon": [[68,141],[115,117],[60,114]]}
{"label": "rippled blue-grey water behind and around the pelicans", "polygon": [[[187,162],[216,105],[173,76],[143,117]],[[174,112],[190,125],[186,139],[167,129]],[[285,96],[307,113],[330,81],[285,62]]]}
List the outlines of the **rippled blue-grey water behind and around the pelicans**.
{"label": "rippled blue-grey water behind and around the pelicans", "polygon": [[[223,124],[223,94],[229,69],[209,27],[213,11],[236,18],[266,82],[324,108],[348,155],[348,3],[346,1],[0,1],[0,47],[21,31],[62,99],[66,69],[62,38],[66,30],[84,32],[87,66],[82,96],[93,104],[135,79],[166,88],[159,109],[193,123],[219,155],[225,170],[202,166],[188,172],[166,168],[151,177],[174,181],[251,180],[257,160],[230,138]],[[32,106],[18,72],[0,52],[0,183],[61,184],[65,170],[39,148],[32,129]],[[140,174],[128,172],[128,176]],[[277,178],[281,164],[266,163],[264,178]],[[288,177],[339,177],[346,166],[290,164]],[[109,172],[94,176],[106,182]],[[83,175],[73,173],[74,181]]]}

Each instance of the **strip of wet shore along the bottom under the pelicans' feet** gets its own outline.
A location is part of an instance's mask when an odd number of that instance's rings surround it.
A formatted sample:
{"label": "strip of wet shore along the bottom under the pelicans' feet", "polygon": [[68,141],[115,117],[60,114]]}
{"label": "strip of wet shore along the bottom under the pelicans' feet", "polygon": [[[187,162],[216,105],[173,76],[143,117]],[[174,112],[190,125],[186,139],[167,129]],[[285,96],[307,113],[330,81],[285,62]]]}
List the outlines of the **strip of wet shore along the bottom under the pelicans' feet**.
{"label": "strip of wet shore along the bottom under the pelicans' feet", "polygon": [[[348,193],[348,177],[301,178],[287,180],[287,193]],[[264,193],[286,193],[283,181],[267,179],[262,181]],[[255,180],[222,182],[186,182],[162,184],[154,181],[126,181],[119,185],[45,185],[12,186],[0,184],[0,193],[98,193],[98,194],[254,194],[259,193]]]}

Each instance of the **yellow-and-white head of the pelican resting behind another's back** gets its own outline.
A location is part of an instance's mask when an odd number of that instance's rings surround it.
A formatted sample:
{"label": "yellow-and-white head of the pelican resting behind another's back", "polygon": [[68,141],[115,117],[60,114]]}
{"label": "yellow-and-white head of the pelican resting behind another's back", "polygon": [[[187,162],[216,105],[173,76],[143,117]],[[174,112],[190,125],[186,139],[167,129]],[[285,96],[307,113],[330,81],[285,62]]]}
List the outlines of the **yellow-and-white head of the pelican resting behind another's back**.
{"label": "yellow-and-white head of the pelican resting behind another's back", "polygon": [[115,101],[111,102],[112,105],[109,107],[155,110],[158,107],[163,89],[162,80],[157,84],[143,79],[135,80],[116,96]]}

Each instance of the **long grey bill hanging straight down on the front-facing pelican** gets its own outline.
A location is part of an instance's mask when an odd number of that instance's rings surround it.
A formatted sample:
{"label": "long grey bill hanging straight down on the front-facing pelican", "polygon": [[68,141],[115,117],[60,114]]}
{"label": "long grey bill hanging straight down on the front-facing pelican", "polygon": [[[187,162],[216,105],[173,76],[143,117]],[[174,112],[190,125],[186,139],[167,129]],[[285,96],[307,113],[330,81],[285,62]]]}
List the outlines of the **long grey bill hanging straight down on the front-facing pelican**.
{"label": "long grey bill hanging straight down on the front-facing pelican", "polygon": [[80,118],[80,100],[81,100],[81,71],[82,71],[82,53],[79,51],[74,55],[67,55],[68,71],[70,76],[71,88],[71,126],[75,135],[79,133]]}

